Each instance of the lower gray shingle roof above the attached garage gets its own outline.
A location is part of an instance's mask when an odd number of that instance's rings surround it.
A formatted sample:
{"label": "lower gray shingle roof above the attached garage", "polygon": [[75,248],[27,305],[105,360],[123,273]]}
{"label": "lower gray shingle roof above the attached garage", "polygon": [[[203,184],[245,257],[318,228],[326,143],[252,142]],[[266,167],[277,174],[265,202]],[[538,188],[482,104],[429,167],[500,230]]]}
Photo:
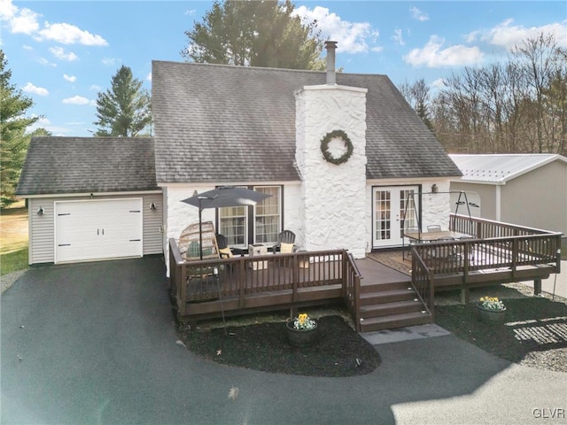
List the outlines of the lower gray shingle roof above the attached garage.
{"label": "lower gray shingle roof above the attached garage", "polygon": [[16,194],[158,189],[153,139],[33,137]]}

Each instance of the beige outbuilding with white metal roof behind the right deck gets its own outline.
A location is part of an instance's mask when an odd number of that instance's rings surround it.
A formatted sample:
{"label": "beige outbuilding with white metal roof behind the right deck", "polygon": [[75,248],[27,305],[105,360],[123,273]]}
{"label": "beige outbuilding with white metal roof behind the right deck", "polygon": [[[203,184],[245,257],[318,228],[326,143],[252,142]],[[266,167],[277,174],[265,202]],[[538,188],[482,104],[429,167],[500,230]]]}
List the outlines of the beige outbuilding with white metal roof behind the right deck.
{"label": "beige outbuilding with white metal roof behind the right deck", "polygon": [[449,155],[462,172],[452,191],[478,199],[488,220],[567,235],[567,158],[555,154]]}

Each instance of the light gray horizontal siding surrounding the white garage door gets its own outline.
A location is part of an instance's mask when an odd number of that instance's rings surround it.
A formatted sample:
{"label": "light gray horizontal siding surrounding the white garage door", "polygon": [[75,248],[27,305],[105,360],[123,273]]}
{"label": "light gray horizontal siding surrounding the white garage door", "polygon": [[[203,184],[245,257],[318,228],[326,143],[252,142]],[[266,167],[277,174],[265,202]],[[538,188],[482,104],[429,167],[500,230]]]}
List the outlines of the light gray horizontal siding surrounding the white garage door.
{"label": "light gray horizontal siding surrounding the white garage door", "polygon": [[[98,195],[97,200],[123,199],[128,197],[142,197],[143,228],[144,228],[144,255],[160,254],[161,248],[161,214],[163,213],[161,194],[123,194],[104,196]],[[33,197],[28,201],[29,217],[29,264],[52,263],[55,260],[55,216],[54,205],[56,202],[65,201],[87,201],[89,197]],[[151,210],[151,203],[156,205]],[[42,207],[43,215],[38,215],[37,210]]]}

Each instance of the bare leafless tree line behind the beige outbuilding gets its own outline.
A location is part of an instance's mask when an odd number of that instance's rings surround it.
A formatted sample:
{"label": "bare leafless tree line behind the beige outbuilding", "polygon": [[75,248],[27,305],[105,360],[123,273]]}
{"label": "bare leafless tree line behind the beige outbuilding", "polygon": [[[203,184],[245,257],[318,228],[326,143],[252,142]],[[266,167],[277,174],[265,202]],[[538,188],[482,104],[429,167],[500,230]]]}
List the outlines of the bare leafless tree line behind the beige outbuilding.
{"label": "bare leafless tree line behind the beige outbuilding", "polygon": [[435,95],[423,79],[399,89],[449,152],[567,156],[567,50],[552,35],[453,73]]}

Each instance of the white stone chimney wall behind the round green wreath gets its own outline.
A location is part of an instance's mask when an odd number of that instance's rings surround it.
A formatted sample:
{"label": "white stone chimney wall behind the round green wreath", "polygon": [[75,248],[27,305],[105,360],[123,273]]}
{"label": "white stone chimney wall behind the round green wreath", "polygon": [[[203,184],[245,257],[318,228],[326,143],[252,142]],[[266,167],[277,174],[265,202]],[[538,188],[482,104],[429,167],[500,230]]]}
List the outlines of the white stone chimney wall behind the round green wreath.
{"label": "white stone chimney wall behind the round green wreath", "polygon": [[[307,251],[346,248],[355,258],[366,254],[367,91],[328,84],[296,92],[299,235]],[[333,130],[345,131],[353,143],[353,155],[338,166],[321,152],[322,138]]]}

